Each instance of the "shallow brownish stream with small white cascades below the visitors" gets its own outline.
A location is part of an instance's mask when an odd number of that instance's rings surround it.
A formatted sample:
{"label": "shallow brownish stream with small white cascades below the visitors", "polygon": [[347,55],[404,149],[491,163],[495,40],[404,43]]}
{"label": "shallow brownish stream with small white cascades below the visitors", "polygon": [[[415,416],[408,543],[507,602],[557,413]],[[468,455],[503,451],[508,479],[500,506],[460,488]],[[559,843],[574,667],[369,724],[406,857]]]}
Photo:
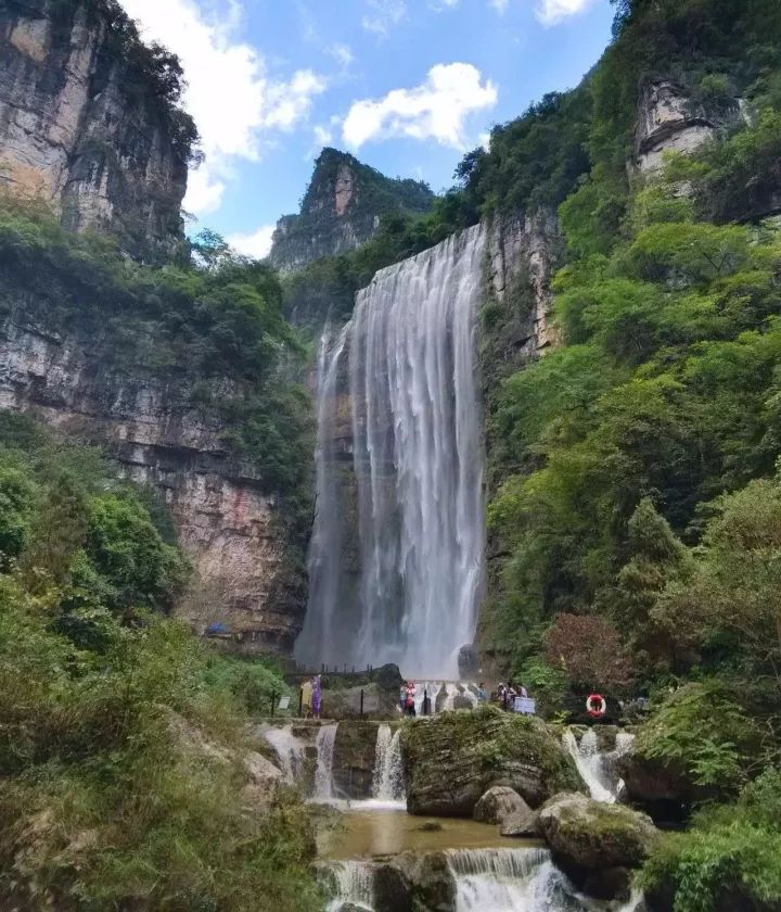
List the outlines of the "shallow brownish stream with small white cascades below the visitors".
{"label": "shallow brownish stream with small white cascades below the visitors", "polygon": [[[450,696],[447,693],[444,698]],[[404,877],[399,872],[405,865],[426,864],[427,859],[433,859],[440,872],[443,864],[447,871],[444,879],[450,886],[441,888],[452,891],[447,901],[453,912],[642,909],[639,896],[629,902],[601,902],[579,894],[552,863],[541,840],[509,839],[499,835],[496,825],[473,820],[408,814],[400,729],[394,727],[389,723],[376,726],[371,787],[359,800],[345,798],[334,784],[337,723],[265,731],[280,757],[285,780],[305,788],[308,800],[341,811],[337,822],[318,832],[319,870],[332,895],[328,912],[389,912],[395,900],[387,896],[388,877],[392,882]],[[596,800],[618,800],[622,782],[614,771],[615,760],[628,749],[631,737],[618,733],[613,749],[600,750],[593,730],[564,732],[562,745]],[[307,757],[311,770],[308,785],[304,780]]]}

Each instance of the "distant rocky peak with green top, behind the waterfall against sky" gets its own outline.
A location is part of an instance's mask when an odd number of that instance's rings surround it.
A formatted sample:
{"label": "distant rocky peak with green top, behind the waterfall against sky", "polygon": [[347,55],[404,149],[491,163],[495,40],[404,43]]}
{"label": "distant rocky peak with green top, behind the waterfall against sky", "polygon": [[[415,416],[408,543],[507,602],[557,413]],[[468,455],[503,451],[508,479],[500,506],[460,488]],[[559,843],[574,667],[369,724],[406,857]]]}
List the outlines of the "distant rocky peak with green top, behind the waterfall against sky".
{"label": "distant rocky peak with green top, behind the waterfall against sky", "polygon": [[434,204],[425,183],[390,179],[336,149],[323,149],[298,215],[277,223],[271,263],[282,273],[371,240],[383,215],[424,213]]}

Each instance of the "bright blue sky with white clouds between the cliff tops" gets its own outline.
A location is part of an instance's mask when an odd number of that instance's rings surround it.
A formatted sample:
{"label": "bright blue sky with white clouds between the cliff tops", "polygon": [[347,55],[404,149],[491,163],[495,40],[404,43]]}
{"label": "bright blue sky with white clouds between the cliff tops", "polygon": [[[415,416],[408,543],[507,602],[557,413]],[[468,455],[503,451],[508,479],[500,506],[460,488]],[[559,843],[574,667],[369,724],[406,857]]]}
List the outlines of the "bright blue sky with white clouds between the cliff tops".
{"label": "bright blue sky with white clouds between the cliff tops", "polygon": [[491,125],[574,86],[609,0],[121,0],[182,59],[206,164],[190,230],[264,255],[323,144],[390,176],[452,182]]}

